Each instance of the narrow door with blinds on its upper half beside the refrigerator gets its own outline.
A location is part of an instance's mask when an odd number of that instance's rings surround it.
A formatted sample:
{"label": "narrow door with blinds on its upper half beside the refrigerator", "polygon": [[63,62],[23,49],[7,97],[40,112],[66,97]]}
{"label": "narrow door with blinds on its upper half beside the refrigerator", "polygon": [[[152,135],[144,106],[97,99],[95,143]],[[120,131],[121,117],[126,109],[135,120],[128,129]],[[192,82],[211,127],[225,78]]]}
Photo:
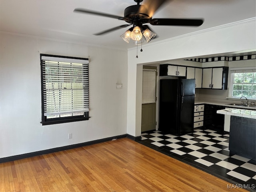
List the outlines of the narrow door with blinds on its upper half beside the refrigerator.
{"label": "narrow door with blinds on its upper half beside the refrigerator", "polygon": [[156,67],[143,66],[141,131],[156,130]]}

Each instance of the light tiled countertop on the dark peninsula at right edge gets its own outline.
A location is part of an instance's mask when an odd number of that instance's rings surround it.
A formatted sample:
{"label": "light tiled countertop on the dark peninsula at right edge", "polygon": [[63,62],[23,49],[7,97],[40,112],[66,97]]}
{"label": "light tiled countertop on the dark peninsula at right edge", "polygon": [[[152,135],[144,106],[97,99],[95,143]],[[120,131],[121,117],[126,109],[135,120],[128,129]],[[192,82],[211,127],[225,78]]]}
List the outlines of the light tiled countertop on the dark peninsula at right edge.
{"label": "light tiled countertop on the dark peninsula at right edge", "polygon": [[229,109],[217,110],[217,113],[224,114],[224,115],[256,119],[256,111],[255,110],[229,108]]}

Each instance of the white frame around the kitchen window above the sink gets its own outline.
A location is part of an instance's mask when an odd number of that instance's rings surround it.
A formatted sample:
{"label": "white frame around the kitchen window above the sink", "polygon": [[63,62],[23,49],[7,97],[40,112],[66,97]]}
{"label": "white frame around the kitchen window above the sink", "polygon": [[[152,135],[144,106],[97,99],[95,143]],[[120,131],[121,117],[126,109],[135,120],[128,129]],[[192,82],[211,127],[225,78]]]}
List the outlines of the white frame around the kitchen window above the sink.
{"label": "white frame around the kitchen window above the sink", "polygon": [[[246,68],[230,68],[229,70],[229,92],[228,92],[228,98],[233,98],[233,99],[239,99],[240,100],[240,97],[235,97],[233,96],[233,82],[234,82],[234,73],[235,71],[245,71],[245,72],[248,72],[249,70],[252,70],[252,72],[256,72],[256,68],[253,68],[253,67],[246,67]],[[252,83],[254,84],[254,83]],[[247,96],[246,96],[247,98]],[[248,97],[249,100],[254,100],[256,98],[251,98],[251,97]]]}

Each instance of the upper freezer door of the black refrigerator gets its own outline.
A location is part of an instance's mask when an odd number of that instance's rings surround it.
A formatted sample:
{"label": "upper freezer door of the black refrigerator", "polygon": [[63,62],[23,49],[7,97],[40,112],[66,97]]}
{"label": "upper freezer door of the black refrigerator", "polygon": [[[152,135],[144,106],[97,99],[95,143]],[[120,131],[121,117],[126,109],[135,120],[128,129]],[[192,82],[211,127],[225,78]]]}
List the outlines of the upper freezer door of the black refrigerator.
{"label": "upper freezer door of the black refrigerator", "polygon": [[195,80],[180,79],[180,96],[195,95]]}

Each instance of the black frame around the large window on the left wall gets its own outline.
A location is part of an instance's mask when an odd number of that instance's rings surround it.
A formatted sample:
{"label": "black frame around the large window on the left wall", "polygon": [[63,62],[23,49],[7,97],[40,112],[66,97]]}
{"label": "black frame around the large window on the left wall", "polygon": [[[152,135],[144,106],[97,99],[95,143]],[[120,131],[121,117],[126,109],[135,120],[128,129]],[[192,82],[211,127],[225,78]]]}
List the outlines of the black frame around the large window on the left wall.
{"label": "black frame around the large window on the left wall", "polygon": [[[42,57],[56,57],[56,58],[64,58],[64,59],[78,59],[78,60],[87,60],[88,58],[78,58],[78,57],[70,57],[70,56],[58,56],[58,55],[50,55],[50,54],[40,54],[40,70],[41,70],[41,107],[42,107],[42,125],[51,125],[51,124],[60,124],[60,123],[67,123],[67,122],[76,122],[76,121],[84,121],[89,120],[89,111],[84,112],[83,115],[78,116],[66,116],[66,117],[57,117],[57,118],[47,118],[44,115],[44,72],[43,72],[43,59]],[[71,62],[70,62],[71,63]],[[89,64],[89,62],[88,62]],[[89,66],[88,66],[89,67]],[[89,69],[86,73],[88,75],[88,91],[89,91]],[[88,92],[89,96],[89,92]]]}

